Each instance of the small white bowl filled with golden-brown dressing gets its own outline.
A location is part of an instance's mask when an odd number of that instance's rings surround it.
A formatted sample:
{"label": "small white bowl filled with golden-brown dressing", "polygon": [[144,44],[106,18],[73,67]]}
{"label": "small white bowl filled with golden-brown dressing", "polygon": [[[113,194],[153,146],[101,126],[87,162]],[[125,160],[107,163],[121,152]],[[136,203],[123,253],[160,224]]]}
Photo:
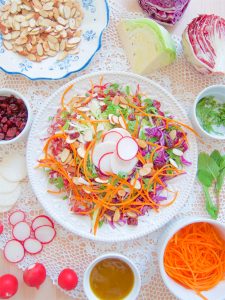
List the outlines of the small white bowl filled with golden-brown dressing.
{"label": "small white bowl filled with golden-brown dressing", "polygon": [[135,264],[118,253],[96,258],[84,274],[84,291],[89,300],[135,300],[141,278]]}

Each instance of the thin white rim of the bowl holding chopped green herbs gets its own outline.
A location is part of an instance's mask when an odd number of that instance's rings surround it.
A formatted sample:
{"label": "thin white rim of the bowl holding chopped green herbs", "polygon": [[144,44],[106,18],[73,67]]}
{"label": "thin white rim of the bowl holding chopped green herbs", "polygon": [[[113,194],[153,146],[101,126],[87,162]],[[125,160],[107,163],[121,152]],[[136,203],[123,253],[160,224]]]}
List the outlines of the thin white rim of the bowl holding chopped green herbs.
{"label": "thin white rim of the bowl holding chopped green herbs", "polygon": [[210,85],[208,87],[206,87],[204,90],[202,90],[198,96],[196,97],[195,99],[195,102],[194,102],[194,106],[193,106],[193,117],[194,117],[194,122],[195,122],[195,125],[197,126],[199,132],[201,132],[203,135],[211,138],[211,139],[214,139],[214,140],[225,140],[225,135],[224,136],[215,136],[215,135],[211,135],[209,132],[207,132],[204,128],[202,128],[202,126],[200,125],[199,121],[198,121],[198,118],[197,118],[197,114],[196,114],[196,107],[197,107],[197,104],[198,102],[201,100],[202,98],[202,94],[204,94],[205,92],[208,92],[210,91],[211,89],[215,89],[215,88],[222,88],[224,89],[224,94],[225,94],[225,85],[223,84],[215,84],[215,85]]}

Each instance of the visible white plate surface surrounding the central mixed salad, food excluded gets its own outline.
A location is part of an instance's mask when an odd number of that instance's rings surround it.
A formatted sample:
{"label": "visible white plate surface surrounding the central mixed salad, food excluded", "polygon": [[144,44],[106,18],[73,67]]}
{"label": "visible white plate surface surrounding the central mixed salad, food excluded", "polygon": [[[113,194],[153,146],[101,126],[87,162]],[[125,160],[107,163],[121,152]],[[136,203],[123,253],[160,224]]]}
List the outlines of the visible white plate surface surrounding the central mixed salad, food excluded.
{"label": "visible white plate surface surrounding the central mixed salad, food excluded", "polygon": [[105,242],[132,240],[151,233],[165,225],[188,201],[197,168],[197,143],[195,136],[189,132],[189,150],[185,153],[185,157],[192,162],[192,165],[186,168],[185,175],[174,179],[170,183],[170,189],[179,191],[179,195],[173,205],[161,208],[159,213],[151,211],[148,215],[140,217],[138,219],[138,226],[125,225],[113,229],[110,225],[104,224],[98,229],[96,236],[94,236],[90,233],[90,218],[72,214],[68,209],[67,201],[63,201],[55,195],[48,194],[48,178],[45,176],[43,170],[36,169],[35,166],[37,166],[37,160],[43,157],[43,138],[48,135],[47,129],[49,127],[49,117],[55,115],[65,88],[74,83],[74,90],[71,91],[71,93],[75,90],[86,91],[90,88],[89,80],[92,80],[97,84],[99,83],[100,76],[103,76],[104,82],[129,84],[133,89],[137,87],[137,84],[140,84],[142,91],[152,99],[157,99],[162,103],[162,109],[164,111],[170,111],[178,120],[191,126],[185,111],[174,97],[157,83],[147,78],[125,72],[94,73],[92,75],[82,76],[56,91],[55,94],[44,103],[36,116],[27,144],[28,174],[33,190],[40,203],[48,214],[64,228],[75,234],[93,240]]}

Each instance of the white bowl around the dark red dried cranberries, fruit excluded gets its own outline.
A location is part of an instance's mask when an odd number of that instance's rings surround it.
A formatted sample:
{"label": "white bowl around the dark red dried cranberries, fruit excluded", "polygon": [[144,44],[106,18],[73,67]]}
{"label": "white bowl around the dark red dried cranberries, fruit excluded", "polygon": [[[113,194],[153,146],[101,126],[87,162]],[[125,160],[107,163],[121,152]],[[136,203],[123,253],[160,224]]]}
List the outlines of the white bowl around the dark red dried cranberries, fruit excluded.
{"label": "white bowl around the dark red dried cranberries, fruit excluded", "polygon": [[23,139],[25,139],[27,137],[30,126],[31,126],[32,111],[31,111],[30,104],[25,99],[25,97],[23,95],[21,95],[19,92],[12,90],[12,89],[0,89],[0,96],[11,96],[11,95],[15,96],[18,99],[22,99],[24,104],[26,105],[27,113],[28,113],[27,123],[26,123],[26,126],[24,127],[24,129],[21,131],[21,133],[18,136],[16,136],[15,138],[13,138],[11,140],[0,141],[0,146],[7,145],[7,144],[13,144],[13,143],[22,141]]}

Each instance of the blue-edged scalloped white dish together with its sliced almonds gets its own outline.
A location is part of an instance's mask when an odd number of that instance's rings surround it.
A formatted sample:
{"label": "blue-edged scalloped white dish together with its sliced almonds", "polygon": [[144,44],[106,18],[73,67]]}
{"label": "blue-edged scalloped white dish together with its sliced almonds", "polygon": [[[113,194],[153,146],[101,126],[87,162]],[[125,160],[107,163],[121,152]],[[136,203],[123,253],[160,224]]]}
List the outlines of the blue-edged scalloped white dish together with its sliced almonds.
{"label": "blue-edged scalloped white dish together with its sliced almonds", "polygon": [[90,63],[108,20],[106,0],[1,1],[0,68],[32,80],[65,78]]}

